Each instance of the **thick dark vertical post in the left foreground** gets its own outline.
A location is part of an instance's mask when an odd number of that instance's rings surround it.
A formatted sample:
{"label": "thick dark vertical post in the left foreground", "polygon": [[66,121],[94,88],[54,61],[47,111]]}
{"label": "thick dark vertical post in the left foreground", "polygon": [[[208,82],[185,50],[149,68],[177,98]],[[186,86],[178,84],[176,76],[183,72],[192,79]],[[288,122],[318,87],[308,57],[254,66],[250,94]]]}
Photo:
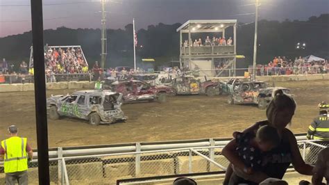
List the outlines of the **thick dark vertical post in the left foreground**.
{"label": "thick dark vertical post in the left foreground", "polygon": [[35,120],[37,129],[37,172],[39,184],[50,184],[46,79],[44,72],[44,32],[42,0],[31,0]]}

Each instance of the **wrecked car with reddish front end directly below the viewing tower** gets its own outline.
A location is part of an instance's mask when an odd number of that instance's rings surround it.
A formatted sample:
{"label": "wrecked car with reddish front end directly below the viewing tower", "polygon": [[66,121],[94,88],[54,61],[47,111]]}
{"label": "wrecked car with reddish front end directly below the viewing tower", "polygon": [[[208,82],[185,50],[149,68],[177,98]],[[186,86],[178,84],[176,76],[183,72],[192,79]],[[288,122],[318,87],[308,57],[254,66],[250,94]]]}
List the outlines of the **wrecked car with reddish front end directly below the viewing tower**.
{"label": "wrecked car with reddish front end directly below the viewing tower", "polygon": [[192,76],[176,77],[171,82],[171,87],[174,88],[176,95],[219,95],[219,83],[208,81],[201,82]]}

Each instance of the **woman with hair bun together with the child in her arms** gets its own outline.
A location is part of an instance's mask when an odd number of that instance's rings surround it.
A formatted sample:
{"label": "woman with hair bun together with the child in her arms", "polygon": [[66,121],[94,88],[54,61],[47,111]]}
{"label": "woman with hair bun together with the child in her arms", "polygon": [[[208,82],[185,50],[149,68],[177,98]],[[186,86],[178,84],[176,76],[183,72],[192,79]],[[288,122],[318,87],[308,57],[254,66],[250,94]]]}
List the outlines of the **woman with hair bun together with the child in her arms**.
{"label": "woman with hair bun together with the child in her arms", "polygon": [[260,184],[269,177],[282,179],[291,163],[297,172],[312,175],[313,167],[303,161],[294,134],[286,128],[295,110],[294,99],[276,90],[267,107],[267,120],[256,122],[243,133],[235,132],[235,138],[222,151],[232,164],[224,184]]}

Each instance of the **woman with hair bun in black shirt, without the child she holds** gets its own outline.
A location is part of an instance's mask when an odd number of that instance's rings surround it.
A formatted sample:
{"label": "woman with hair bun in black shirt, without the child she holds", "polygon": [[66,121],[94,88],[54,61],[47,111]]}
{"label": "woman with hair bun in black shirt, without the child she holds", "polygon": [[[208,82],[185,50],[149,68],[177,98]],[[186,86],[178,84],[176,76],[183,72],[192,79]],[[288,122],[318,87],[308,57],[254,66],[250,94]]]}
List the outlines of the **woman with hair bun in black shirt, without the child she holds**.
{"label": "woman with hair bun in black shirt, without the child she holds", "polygon": [[[249,132],[255,134],[263,125],[269,125],[277,129],[280,136],[280,144],[271,151],[264,153],[264,161],[266,161],[267,165],[264,166],[262,172],[247,174],[243,171],[244,169],[237,167],[239,170],[235,170],[235,172],[237,172],[239,177],[257,184],[269,177],[282,179],[291,163],[297,172],[303,175],[312,175],[313,166],[310,166],[303,161],[294,134],[286,128],[292,121],[295,110],[296,102],[294,99],[285,94],[282,90],[276,90],[273,99],[267,107],[267,120],[256,122],[252,127],[244,130],[244,133]],[[235,141],[232,140],[231,142]],[[229,148],[228,150],[235,150],[235,148]],[[223,151],[222,154],[225,155],[225,152]],[[229,157],[229,160],[234,161],[234,163],[243,163],[239,158],[239,155],[236,153]],[[230,177],[232,172],[232,166],[229,166],[226,171],[226,177]],[[229,179],[226,178],[224,184],[228,184],[228,182]]]}

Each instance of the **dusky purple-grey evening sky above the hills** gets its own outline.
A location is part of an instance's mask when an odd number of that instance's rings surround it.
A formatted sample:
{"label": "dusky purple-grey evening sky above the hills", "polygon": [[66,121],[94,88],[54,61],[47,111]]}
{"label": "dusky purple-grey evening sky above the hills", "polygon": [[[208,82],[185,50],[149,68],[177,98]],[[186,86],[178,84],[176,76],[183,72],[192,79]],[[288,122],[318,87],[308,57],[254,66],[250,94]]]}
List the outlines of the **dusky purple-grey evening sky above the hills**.
{"label": "dusky purple-grey evening sky above the hills", "polygon": [[[44,29],[100,28],[100,0],[44,0]],[[253,22],[255,0],[108,0],[108,29],[124,28],[135,17],[137,29],[188,19]],[[329,0],[260,0],[260,19],[299,19],[329,13]],[[0,0],[0,38],[31,30],[29,0]]]}

